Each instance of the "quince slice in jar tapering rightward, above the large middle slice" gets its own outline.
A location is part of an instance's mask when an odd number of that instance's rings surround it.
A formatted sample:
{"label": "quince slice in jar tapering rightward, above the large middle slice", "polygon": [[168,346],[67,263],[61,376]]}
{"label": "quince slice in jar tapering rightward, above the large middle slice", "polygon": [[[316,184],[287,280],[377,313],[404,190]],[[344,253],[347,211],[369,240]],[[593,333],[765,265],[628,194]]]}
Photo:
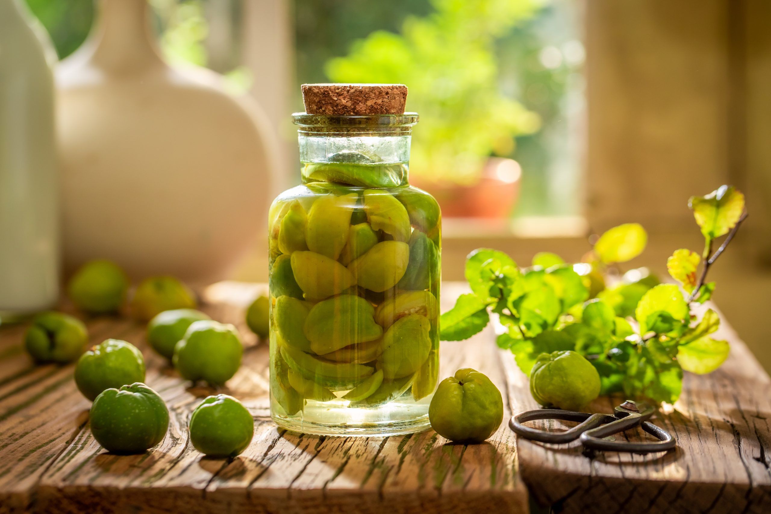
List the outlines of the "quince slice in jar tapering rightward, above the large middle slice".
{"label": "quince slice in jar tapering rightward, above the large middle slice", "polygon": [[293,252],[291,269],[308,299],[322,300],[356,284],[355,277],[345,266],[315,252]]}

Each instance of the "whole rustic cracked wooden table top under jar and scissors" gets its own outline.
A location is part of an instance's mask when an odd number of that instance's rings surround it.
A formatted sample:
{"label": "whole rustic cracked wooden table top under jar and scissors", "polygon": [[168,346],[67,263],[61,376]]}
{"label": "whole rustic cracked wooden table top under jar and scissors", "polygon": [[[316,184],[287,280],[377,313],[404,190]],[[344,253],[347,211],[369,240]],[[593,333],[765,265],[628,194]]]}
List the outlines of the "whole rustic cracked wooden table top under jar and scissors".
{"label": "whole rustic cracked wooden table top under jar and scissors", "polygon": [[[204,306],[214,319],[236,324],[247,344],[244,365],[224,391],[250,409],[255,433],[231,460],[204,458],[190,446],[188,415],[212,390],[191,388],[153,354],[143,325],[122,317],[88,321],[93,343],[122,338],[143,351],[146,381],[172,414],[157,448],[128,456],[94,441],[72,366],[33,365],[22,350],[25,327],[0,328],[0,512],[771,512],[769,377],[725,324],[729,361],[712,375],[689,375],[680,401],[654,420],[678,438],[675,451],[588,459],[575,444],[517,440],[506,421],[488,442],[469,446],[433,431],[335,438],[279,429],[268,413],[267,345],[242,322],[259,289],[221,284],[207,291]],[[443,310],[462,291],[445,284]],[[441,376],[461,366],[498,385],[505,420],[536,406],[492,328],[442,344]],[[593,405],[611,407],[608,399]]]}

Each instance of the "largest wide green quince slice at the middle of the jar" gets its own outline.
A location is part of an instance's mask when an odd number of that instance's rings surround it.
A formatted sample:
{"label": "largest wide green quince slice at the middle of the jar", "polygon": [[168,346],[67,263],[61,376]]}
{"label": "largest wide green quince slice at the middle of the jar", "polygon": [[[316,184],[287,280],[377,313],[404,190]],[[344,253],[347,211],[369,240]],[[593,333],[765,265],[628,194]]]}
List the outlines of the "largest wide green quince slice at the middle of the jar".
{"label": "largest wide green quince slice at the middle of the jar", "polygon": [[315,304],[305,320],[305,335],[315,354],[328,354],[350,344],[382,336],[375,307],[364,298],[340,294]]}

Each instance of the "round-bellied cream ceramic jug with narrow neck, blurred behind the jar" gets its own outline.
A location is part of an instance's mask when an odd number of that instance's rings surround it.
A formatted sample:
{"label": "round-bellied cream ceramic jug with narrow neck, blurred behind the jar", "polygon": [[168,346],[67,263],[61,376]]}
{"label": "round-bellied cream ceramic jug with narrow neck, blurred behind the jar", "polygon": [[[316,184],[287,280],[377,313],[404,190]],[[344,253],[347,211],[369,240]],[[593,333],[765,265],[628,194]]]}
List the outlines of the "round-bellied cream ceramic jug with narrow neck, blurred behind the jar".
{"label": "round-bellied cream ceramic jug with narrow neck, blurred behind the jar", "polygon": [[274,145],[261,109],[160,58],[146,0],[103,0],[56,72],[66,267],[227,276],[264,240]]}

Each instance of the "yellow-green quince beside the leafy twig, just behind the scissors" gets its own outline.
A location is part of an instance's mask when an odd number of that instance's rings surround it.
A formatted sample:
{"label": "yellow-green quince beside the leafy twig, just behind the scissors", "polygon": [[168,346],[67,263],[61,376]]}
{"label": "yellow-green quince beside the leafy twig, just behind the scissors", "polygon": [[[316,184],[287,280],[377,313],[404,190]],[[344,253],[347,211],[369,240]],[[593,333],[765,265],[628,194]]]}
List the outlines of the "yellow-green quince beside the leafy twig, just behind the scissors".
{"label": "yellow-green quince beside the leafy twig, just behind the scissors", "polygon": [[575,351],[540,354],[530,370],[530,394],[544,407],[578,411],[600,395],[600,375]]}

